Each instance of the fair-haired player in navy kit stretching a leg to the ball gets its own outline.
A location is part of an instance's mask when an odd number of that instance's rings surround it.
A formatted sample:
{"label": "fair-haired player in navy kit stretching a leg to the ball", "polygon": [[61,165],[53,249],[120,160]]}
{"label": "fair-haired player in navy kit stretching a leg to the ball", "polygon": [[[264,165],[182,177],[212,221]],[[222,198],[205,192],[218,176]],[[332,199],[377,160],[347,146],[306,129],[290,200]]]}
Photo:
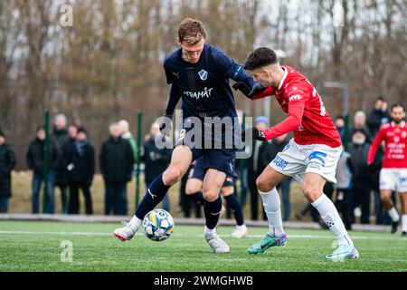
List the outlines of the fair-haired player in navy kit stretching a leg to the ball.
{"label": "fair-haired player in navy kit stretching a leg to the ball", "polygon": [[[251,76],[243,73],[243,66],[235,63],[229,56],[216,47],[205,44],[204,24],[198,20],[186,18],[178,28],[178,50],[166,56],[164,69],[166,81],[171,84],[170,97],[166,108],[166,117],[171,119],[175,106],[182,98],[183,124],[175,144],[171,163],[166,171],[150,185],[133,218],[125,227],[113,232],[122,241],[131,239],[142,224],[146,214],[158,205],[168,189],[180,180],[190,164],[203,156],[206,163],[204,178],[204,238],[214,253],[229,253],[230,247],[216,234],[216,225],[222,209],[220,190],[227,176],[237,177],[234,171],[236,144],[232,147],[225,140],[227,132],[233,131],[241,136],[240,126],[226,125],[222,133],[208,137],[206,118],[236,120],[237,114],[229,80],[243,83],[248,96],[259,90],[258,83]],[[194,121],[202,122],[196,125]],[[188,124],[194,123],[193,128]],[[234,123],[234,122],[233,122]],[[209,124],[213,131],[213,124]],[[161,126],[162,132],[169,133],[169,126]],[[228,128],[229,127],[229,128]],[[188,139],[188,132],[201,130],[200,136]],[[202,138],[199,138],[202,137]],[[208,148],[207,141],[211,144]],[[202,142],[205,141],[205,146]],[[233,138],[233,140],[236,140]],[[201,143],[201,144],[199,144]],[[218,146],[221,144],[221,148]]]}

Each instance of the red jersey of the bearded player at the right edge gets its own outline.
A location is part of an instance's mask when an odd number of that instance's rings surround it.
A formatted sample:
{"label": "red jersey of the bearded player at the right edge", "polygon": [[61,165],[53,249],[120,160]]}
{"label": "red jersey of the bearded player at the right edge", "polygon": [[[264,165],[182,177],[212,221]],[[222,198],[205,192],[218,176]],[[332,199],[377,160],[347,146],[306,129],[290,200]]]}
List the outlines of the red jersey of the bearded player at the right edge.
{"label": "red jersey of the bearded player at the right edge", "polygon": [[384,140],[385,150],[383,158],[383,169],[407,169],[407,126],[402,121],[396,126],[392,121],[384,124],[377,133],[367,156],[367,163],[374,162],[374,155],[380,143]]}

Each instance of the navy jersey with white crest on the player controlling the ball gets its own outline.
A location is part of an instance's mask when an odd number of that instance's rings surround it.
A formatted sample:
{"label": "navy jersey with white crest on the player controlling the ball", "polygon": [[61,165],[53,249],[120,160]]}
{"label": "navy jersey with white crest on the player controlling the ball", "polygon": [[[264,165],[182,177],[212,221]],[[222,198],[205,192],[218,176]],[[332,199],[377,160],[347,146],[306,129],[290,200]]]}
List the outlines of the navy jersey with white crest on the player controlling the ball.
{"label": "navy jersey with white crest on the player controlling the ball", "polygon": [[172,84],[166,110],[172,115],[176,103],[183,99],[184,120],[188,117],[237,117],[235,101],[229,80],[254,85],[251,76],[243,73],[243,66],[235,63],[218,48],[204,44],[198,63],[182,58],[182,49],[166,56],[164,61],[166,82]]}

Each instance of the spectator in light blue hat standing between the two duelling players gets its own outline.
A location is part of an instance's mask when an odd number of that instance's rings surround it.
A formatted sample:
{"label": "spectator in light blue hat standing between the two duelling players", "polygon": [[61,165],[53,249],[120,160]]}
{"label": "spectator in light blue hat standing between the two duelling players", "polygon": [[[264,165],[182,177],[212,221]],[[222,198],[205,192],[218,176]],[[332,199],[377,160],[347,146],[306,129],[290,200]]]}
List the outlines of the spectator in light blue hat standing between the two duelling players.
{"label": "spectator in light blue hat standing between the two duelling players", "polygon": [[[265,116],[259,116],[254,120],[254,124],[260,131],[269,128],[269,120]],[[251,191],[251,219],[257,220],[259,213],[259,192],[256,185],[256,179],[266,168],[271,160],[267,159],[270,150],[270,142],[252,140],[251,157],[247,160],[247,184]],[[263,212],[263,219],[265,214]]]}

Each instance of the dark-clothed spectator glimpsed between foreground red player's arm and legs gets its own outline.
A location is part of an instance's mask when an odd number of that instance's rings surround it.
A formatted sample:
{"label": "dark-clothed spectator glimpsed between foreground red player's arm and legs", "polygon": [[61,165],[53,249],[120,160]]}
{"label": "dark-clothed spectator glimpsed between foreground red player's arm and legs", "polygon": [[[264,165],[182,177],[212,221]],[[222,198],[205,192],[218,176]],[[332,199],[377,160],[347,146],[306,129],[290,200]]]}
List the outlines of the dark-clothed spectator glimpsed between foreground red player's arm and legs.
{"label": "dark-clothed spectator glimpsed between foreground red player's arm and legs", "polygon": [[[265,160],[274,160],[277,156],[277,153],[284,150],[284,148],[289,144],[287,138],[288,134],[283,134],[275,139],[271,140],[270,150],[265,151],[264,159]],[[283,200],[283,221],[289,221],[291,215],[291,203],[289,202],[289,185],[291,184],[291,178],[285,179],[283,182],[279,183],[277,190],[281,193]]]}

